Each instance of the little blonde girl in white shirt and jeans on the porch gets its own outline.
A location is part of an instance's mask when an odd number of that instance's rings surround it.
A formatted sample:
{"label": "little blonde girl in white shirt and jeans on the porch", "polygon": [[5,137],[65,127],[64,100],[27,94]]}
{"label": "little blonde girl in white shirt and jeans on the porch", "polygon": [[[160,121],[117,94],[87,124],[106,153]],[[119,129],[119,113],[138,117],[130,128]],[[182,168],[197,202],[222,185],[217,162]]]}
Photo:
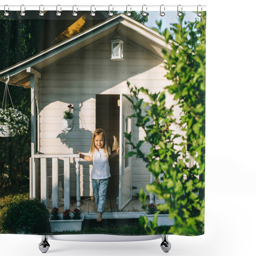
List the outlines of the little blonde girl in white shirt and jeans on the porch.
{"label": "little blonde girl in white shirt and jeans on the porch", "polygon": [[96,129],[92,135],[92,145],[89,156],[85,156],[78,151],[79,157],[93,163],[91,179],[92,190],[98,211],[97,221],[102,220],[102,212],[105,206],[108,179],[110,177],[108,160],[119,154],[119,148],[115,153],[110,154],[107,145],[106,133],[102,129]]}

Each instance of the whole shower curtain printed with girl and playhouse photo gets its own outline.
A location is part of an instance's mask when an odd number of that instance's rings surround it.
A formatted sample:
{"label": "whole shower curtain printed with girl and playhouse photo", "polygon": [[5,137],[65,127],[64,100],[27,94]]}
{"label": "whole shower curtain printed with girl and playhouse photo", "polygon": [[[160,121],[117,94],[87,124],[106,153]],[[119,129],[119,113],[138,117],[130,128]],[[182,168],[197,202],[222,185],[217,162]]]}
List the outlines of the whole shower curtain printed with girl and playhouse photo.
{"label": "whole shower curtain printed with girl and playhouse photo", "polygon": [[0,12],[0,232],[204,234],[206,12],[40,12]]}

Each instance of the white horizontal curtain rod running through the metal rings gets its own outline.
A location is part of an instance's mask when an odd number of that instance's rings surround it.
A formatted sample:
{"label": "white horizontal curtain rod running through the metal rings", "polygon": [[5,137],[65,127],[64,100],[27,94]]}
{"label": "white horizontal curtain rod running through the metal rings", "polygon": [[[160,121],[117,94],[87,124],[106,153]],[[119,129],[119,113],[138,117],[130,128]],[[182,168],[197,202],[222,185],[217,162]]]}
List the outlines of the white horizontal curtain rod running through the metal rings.
{"label": "white horizontal curtain rod running through the metal rings", "polygon": [[[40,5],[40,11],[206,11],[206,5]],[[143,10],[142,10],[143,9]],[[1,11],[39,11],[39,5],[0,5]]]}

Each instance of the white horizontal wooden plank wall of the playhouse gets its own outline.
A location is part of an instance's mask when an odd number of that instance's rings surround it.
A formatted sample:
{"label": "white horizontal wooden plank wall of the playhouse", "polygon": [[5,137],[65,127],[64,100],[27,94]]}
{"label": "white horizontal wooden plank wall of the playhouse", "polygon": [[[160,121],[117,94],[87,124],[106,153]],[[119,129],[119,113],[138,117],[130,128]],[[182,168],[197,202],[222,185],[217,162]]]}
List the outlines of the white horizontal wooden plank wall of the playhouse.
{"label": "white horizontal wooden plank wall of the playhouse", "polygon": [[[54,63],[42,73],[39,81],[40,152],[45,154],[87,153],[90,150],[92,133],[95,130],[96,94],[129,93],[127,80],[131,86],[144,86],[152,92],[170,84],[164,77],[166,71],[161,60],[143,52],[141,48],[129,44],[124,38],[124,60],[113,61],[111,43],[113,38],[92,45],[90,48],[67,56]],[[168,104],[173,104],[168,96]],[[69,104],[74,105],[74,124],[70,132],[63,132],[63,111]],[[177,109],[175,115],[179,116]],[[134,122],[135,123],[135,122]],[[139,140],[143,132],[133,125],[133,138]],[[143,146],[145,152],[148,145]],[[49,172],[51,163],[48,161]],[[92,195],[89,190],[90,164],[80,161],[81,195]],[[59,163],[60,172],[63,163]],[[145,189],[150,174],[145,164],[133,159],[133,195]],[[50,173],[48,175],[51,175]],[[71,196],[75,196],[75,164],[71,164]]]}

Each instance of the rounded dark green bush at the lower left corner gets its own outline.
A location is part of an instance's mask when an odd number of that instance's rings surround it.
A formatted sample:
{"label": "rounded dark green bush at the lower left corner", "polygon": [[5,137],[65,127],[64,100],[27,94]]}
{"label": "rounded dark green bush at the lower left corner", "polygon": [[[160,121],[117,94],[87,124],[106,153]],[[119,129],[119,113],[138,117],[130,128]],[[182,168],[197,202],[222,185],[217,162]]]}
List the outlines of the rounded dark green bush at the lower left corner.
{"label": "rounded dark green bush at the lower left corner", "polygon": [[6,233],[42,234],[47,230],[49,212],[38,199],[22,199],[7,206],[2,220]]}

